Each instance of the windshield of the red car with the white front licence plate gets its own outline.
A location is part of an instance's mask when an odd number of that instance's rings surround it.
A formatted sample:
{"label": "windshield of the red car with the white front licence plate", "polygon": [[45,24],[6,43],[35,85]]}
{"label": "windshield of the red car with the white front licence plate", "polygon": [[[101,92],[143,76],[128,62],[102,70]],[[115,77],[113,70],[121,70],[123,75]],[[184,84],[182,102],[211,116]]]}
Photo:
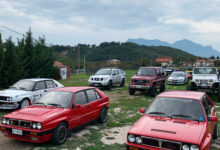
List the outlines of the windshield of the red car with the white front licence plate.
{"label": "windshield of the red car with the white front licence plate", "polygon": [[34,105],[69,108],[72,97],[72,92],[50,91],[43,94]]}

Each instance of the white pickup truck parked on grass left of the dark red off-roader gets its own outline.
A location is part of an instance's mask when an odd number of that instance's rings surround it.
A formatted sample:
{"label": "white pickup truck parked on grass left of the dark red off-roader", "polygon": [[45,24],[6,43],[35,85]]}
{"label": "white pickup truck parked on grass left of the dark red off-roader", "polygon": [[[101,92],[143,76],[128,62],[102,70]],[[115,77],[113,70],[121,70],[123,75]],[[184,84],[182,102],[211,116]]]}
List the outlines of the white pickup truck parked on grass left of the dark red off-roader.
{"label": "white pickup truck parked on grass left of the dark red off-roader", "polygon": [[109,90],[112,86],[119,84],[121,87],[125,85],[126,73],[117,68],[103,68],[98,70],[95,75],[88,80],[89,86],[107,87]]}

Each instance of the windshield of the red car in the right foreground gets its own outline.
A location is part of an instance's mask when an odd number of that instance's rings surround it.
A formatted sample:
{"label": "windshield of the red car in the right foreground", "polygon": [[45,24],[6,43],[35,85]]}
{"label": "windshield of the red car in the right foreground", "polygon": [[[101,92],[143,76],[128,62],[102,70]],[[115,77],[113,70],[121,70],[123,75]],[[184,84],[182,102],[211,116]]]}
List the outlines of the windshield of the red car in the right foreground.
{"label": "windshield of the red car in the right foreground", "polygon": [[202,106],[198,100],[158,97],[149,106],[147,115],[162,115],[184,120],[205,121]]}

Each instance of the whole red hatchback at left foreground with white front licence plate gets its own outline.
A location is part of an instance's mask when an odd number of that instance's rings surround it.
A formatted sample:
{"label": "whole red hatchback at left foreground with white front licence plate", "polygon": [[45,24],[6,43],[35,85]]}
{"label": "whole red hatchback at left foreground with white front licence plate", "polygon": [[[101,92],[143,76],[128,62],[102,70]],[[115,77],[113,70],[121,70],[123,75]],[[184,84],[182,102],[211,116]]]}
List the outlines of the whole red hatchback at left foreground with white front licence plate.
{"label": "whole red hatchback at left foreground with white front licence plate", "polygon": [[70,129],[95,119],[106,122],[108,108],[108,96],[97,88],[58,88],[32,106],[5,115],[0,129],[4,136],[17,140],[62,144]]}

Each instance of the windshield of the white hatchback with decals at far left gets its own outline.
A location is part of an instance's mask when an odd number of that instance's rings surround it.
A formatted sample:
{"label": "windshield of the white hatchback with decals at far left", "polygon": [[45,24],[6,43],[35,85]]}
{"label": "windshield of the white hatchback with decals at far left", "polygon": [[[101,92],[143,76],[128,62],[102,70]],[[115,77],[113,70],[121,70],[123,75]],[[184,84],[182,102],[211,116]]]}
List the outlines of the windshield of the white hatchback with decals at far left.
{"label": "windshield of the white hatchback with decals at far left", "polygon": [[33,90],[34,84],[35,82],[30,80],[20,80],[12,85],[10,89],[31,91]]}

